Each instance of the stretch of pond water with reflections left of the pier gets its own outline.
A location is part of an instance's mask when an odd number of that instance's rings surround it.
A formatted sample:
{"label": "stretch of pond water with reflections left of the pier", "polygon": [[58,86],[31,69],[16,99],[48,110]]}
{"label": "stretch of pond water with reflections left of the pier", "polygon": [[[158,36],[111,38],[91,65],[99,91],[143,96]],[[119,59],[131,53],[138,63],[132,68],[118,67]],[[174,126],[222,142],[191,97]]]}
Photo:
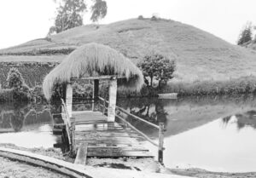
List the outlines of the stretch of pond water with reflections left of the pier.
{"label": "stretch of pond water with reflections left of the pier", "polygon": [[52,118],[48,105],[9,103],[0,106],[0,143],[25,147],[52,147]]}

